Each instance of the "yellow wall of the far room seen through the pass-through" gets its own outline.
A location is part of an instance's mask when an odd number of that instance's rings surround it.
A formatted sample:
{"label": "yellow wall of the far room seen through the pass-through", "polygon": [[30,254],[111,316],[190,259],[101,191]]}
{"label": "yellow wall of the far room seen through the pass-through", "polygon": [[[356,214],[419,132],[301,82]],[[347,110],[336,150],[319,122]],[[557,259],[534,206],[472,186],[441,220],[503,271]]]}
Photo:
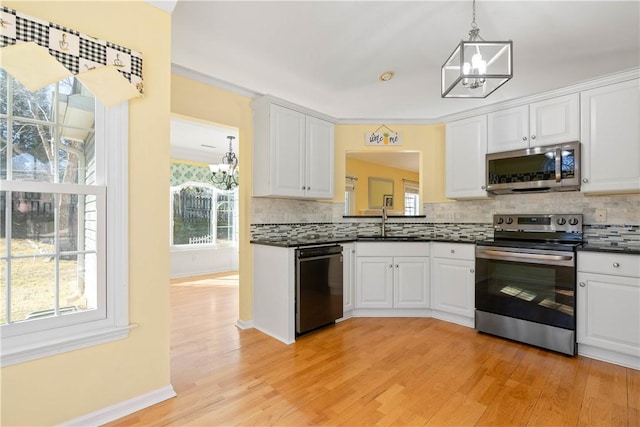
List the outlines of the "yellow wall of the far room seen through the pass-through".
{"label": "yellow wall of the far room seen through the pass-through", "polygon": [[369,177],[388,178],[393,180],[393,207],[395,210],[404,209],[404,181],[418,182],[417,172],[365,162],[350,158],[346,163],[346,174],[358,177],[356,181],[356,215],[369,209]]}

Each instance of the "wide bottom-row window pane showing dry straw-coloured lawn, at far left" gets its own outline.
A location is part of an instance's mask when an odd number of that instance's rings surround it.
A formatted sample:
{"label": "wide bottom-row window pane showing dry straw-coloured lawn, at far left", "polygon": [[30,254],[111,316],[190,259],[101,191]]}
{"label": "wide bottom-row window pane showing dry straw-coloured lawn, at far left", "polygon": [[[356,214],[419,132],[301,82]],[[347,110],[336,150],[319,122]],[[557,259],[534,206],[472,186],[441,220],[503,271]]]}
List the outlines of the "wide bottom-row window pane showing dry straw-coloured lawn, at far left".
{"label": "wide bottom-row window pane showing dry straw-coloured lawn, at far left", "polygon": [[55,262],[43,257],[11,260],[11,321],[51,315]]}

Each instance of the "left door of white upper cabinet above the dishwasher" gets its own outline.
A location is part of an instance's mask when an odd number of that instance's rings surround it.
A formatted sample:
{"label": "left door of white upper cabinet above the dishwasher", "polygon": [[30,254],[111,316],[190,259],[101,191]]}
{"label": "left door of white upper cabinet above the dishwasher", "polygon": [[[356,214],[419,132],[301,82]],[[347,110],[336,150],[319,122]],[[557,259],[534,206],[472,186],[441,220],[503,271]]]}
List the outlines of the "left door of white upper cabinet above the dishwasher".
{"label": "left door of white upper cabinet above the dishwasher", "polygon": [[271,182],[274,195],[304,194],[305,115],[271,105]]}

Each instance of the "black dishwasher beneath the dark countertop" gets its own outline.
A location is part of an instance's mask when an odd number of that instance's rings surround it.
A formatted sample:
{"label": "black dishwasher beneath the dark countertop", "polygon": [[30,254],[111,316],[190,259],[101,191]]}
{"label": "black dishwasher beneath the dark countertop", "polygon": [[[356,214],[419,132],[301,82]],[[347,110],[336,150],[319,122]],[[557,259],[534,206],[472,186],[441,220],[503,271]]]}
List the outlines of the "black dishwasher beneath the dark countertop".
{"label": "black dishwasher beneath the dark countertop", "polygon": [[296,334],[342,317],[342,246],[296,249]]}

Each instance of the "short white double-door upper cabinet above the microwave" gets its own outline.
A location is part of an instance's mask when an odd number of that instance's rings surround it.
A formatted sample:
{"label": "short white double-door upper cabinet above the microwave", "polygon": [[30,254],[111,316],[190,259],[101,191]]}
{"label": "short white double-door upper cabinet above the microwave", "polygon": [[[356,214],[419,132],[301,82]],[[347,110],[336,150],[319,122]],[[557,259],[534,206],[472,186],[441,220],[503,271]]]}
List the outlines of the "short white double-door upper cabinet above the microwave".
{"label": "short white double-door upper cabinet above the microwave", "polygon": [[579,120],[578,94],[489,113],[487,152],[578,141]]}

